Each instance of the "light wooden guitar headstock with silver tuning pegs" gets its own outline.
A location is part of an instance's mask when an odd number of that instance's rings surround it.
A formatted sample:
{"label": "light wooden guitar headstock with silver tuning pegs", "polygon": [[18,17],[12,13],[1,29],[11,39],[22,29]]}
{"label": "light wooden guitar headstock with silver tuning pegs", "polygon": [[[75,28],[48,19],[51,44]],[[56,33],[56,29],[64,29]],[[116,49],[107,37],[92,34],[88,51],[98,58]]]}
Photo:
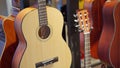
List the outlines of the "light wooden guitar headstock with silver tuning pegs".
{"label": "light wooden guitar headstock with silver tuning pegs", "polygon": [[91,23],[89,21],[87,10],[79,10],[77,11],[77,21],[79,25],[79,30],[85,33],[90,33],[91,31]]}

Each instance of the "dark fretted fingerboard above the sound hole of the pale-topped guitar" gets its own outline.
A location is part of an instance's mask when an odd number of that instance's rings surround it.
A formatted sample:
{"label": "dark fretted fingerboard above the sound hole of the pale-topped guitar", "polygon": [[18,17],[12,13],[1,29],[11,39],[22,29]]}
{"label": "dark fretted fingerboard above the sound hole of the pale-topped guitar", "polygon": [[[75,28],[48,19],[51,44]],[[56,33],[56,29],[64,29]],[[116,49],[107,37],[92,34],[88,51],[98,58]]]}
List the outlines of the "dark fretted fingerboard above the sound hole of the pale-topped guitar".
{"label": "dark fretted fingerboard above the sound hole of the pale-topped guitar", "polygon": [[39,25],[47,25],[46,0],[38,0]]}

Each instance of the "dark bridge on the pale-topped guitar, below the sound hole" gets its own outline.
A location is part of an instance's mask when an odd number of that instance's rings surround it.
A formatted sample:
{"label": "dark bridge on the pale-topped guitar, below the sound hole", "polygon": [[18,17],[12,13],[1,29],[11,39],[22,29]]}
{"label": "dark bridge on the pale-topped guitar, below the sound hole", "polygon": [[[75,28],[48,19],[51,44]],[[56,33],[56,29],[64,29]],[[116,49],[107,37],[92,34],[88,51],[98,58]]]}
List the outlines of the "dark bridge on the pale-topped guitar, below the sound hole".
{"label": "dark bridge on the pale-topped guitar, below the sound hole", "polygon": [[47,65],[53,64],[57,61],[58,61],[58,57],[54,57],[52,59],[48,59],[48,60],[45,60],[45,61],[42,61],[42,62],[38,62],[38,63],[36,63],[36,68],[47,66]]}

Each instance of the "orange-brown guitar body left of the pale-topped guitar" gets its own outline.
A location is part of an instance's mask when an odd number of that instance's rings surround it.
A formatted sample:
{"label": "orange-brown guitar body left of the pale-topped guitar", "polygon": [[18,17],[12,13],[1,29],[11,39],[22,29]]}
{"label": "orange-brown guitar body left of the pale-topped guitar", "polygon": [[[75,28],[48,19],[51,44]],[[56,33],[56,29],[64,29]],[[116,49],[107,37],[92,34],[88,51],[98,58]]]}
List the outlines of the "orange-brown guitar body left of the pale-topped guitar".
{"label": "orange-brown guitar body left of the pale-topped guitar", "polygon": [[10,16],[3,20],[3,29],[5,33],[5,44],[0,60],[0,68],[11,68],[12,58],[18,45],[18,39],[14,29],[14,17]]}

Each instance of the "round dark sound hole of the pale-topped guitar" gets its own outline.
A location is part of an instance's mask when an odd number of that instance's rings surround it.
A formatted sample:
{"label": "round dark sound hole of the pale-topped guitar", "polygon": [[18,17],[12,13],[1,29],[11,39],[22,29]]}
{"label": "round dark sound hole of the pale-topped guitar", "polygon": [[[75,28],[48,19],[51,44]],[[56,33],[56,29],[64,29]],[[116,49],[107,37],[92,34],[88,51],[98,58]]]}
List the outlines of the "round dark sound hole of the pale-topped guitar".
{"label": "round dark sound hole of the pale-topped guitar", "polygon": [[50,28],[46,25],[41,26],[39,31],[38,31],[38,35],[41,39],[46,39],[49,37],[50,35]]}

